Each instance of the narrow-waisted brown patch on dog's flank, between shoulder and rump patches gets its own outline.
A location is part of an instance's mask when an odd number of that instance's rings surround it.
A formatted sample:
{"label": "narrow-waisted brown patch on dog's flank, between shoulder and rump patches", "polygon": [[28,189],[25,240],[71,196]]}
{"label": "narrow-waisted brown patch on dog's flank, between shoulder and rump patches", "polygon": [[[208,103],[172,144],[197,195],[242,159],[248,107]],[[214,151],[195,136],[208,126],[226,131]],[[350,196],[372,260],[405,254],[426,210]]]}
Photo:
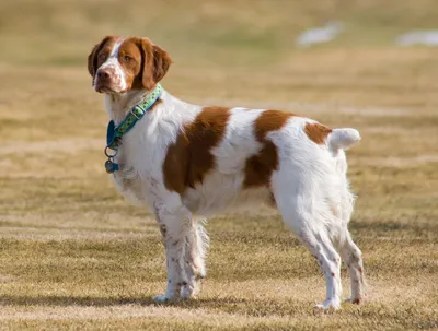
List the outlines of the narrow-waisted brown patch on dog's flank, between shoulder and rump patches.
{"label": "narrow-waisted brown patch on dog's flank, between shoulder and rump patches", "polygon": [[246,159],[243,181],[244,188],[268,186],[270,176],[278,167],[277,147],[266,135],[281,129],[287,120],[295,116],[279,110],[265,110],[254,122],[254,135],[262,149],[256,155]]}

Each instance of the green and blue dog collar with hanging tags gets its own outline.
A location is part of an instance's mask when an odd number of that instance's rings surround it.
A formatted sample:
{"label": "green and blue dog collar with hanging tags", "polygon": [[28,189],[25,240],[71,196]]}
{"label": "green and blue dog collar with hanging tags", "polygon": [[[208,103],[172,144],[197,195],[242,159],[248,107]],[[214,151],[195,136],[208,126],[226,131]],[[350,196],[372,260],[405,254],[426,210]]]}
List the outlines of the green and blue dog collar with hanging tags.
{"label": "green and blue dog collar with hanging tags", "polygon": [[155,104],[161,96],[163,87],[157,84],[155,88],[148,95],[148,97],[140,104],[134,106],[125,119],[117,127],[114,121],[108,122],[106,130],[106,147],[105,155],[108,159],[105,162],[106,173],[112,174],[118,170],[118,164],[113,162],[114,156],[117,155],[118,147],[122,144],[122,138],[145,116],[145,114]]}

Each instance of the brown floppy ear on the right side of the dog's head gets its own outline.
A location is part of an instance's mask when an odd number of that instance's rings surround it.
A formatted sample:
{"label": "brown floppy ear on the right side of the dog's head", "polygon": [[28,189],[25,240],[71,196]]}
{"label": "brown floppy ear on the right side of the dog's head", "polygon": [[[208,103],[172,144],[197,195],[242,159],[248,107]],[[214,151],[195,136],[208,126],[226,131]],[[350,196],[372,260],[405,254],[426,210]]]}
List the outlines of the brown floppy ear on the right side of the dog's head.
{"label": "brown floppy ear on the right side of the dog's head", "polygon": [[139,48],[141,51],[141,84],[146,90],[152,90],[160,82],[172,64],[169,52],[160,46],[152,44],[148,38],[140,38]]}

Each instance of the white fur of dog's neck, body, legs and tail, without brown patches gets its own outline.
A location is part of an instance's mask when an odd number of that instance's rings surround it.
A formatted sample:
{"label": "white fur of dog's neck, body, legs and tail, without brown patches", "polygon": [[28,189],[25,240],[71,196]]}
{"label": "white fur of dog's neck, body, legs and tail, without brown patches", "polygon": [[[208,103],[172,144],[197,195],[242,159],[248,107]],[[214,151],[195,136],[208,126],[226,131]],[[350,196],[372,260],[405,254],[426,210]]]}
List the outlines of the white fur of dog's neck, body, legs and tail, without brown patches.
{"label": "white fur of dog's neck, body, legs and tail, without brown patches", "polygon": [[[106,95],[106,110],[117,123],[145,95],[146,91]],[[120,170],[113,176],[126,199],[154,212],[163,234],[168,288],[155,299],[173,300],[198,293],[199,280],[206,274],[208,246],[208,236],[199,220],[233,205],[254,206],[272,192],[285,223],[316,258],[324,272],[326,299],[318,307],[336,309],[341,306],[341,257],[350,273],[351,300],[360,300],[364,295],[362,262],[360,250],[347,229],[354,197],[348,188],[347,164],[342,150],[358,141],[358,132],[334,130],[327,144],[318,145],[304,132],[306,123],[314,121],[290,117],[281,129],[267,134],[279,156],[278,170],[270,180],[272,191],[267,188],[247,190],[242,188],[243,168],[246,158],[262,147],[253,129],[254,121],[265,110],[233,108],[222,141],[212,150],[216,168],[208,173],[203,184],[187,189],[181,197],[165,188],[162,165],[168,146],[203,108],[183,103],[165,91],[161,99],[162,103],[123,138],[115,159]]]}

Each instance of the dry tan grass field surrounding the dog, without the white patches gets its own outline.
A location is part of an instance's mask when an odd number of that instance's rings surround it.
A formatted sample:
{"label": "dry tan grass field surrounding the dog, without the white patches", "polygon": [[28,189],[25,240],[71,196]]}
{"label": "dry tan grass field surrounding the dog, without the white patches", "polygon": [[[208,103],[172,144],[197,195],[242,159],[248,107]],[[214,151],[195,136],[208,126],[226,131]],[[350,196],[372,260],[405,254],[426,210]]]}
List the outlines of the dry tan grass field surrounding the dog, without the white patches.
{"label": "dry tan grass field surrounding the dog, without the white patches", "polygon": [[[436,26],[433,0],[0,3],[1,330],[438,329],[438,49],[396,35]],[[341,20],[333,43],[293,47]],[[174,59],[163,85],[193,103],[287,109],[354,127],[350,230],[369,299],[312,309],[324,281],[270,213],[210,220],[197,300],[155,306],[159,229],[104,172],[107,118],[87,56],[145,35]],[[344,297],[349,294],[343,268]]]}

